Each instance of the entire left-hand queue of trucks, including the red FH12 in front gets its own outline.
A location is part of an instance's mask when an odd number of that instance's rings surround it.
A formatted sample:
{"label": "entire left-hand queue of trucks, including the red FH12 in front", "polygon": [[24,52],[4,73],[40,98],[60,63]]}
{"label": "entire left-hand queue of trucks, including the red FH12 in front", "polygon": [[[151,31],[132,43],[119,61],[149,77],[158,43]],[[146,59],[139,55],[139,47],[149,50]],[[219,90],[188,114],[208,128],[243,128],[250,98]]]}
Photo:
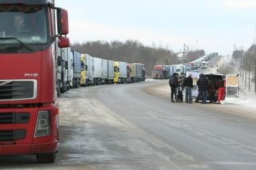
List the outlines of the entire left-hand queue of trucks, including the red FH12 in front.
{"label": "entire left-hand queue of trucks, including the red FH12 in front", "polygon": [[[68,12],[55,0],[1,0],[0,13],[0,155],[36,155],[39,163],[53,163],[57,94],[79,85],[145,80],[142,64],[71,51]],[[22,30],[13,24],[17,16]]]}

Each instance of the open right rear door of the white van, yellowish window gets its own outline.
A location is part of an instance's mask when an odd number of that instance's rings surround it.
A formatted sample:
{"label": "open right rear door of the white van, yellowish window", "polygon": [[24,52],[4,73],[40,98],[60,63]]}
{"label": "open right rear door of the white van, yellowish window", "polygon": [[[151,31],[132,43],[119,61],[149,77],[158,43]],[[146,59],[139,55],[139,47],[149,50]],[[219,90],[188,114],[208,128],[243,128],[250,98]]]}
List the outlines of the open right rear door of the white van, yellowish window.
{"label": "open right rear door of the white van, yellowish window", "polygon": [[238,75],[226,75],[226,97],[238,97]]}

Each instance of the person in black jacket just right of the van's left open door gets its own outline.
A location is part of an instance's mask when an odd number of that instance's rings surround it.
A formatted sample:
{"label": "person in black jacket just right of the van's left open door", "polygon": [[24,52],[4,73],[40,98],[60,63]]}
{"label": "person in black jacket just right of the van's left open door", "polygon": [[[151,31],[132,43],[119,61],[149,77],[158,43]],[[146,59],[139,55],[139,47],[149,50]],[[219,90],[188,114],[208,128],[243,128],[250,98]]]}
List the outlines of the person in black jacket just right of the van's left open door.
{"label": "person in black jacket just right of the van's left open door", "polygon": [[197,86],[199,89],[199,94],[201,95],[202,104],[206,104],[208,80],[203,74],[199,76],[199,79],[197,80]]}

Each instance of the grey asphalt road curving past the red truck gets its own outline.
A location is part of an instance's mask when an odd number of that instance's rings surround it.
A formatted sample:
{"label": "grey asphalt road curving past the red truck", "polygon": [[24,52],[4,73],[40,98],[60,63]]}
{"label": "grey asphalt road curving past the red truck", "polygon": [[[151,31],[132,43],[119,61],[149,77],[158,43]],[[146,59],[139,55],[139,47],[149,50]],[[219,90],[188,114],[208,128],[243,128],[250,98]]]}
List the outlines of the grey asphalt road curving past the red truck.
{"label": "grey asphalt road curving past the red truck", "polygon": [[256,121],[146,93],[149,80],[60,98],[56,163],[0,157],[1,169],[256,169]]}

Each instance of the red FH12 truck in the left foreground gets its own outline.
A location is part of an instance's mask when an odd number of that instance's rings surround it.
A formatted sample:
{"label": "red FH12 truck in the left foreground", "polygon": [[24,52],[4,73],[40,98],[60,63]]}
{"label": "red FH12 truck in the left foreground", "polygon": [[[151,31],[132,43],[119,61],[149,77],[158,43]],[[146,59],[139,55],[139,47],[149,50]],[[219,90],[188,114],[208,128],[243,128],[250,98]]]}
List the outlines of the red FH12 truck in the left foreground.
{"label": "red FH12 truck in the left foreground", "polygon": [[53,163],[57,50],[69,46],[67,11],[53,0],[1,0],[0,13],[0,155]]}

